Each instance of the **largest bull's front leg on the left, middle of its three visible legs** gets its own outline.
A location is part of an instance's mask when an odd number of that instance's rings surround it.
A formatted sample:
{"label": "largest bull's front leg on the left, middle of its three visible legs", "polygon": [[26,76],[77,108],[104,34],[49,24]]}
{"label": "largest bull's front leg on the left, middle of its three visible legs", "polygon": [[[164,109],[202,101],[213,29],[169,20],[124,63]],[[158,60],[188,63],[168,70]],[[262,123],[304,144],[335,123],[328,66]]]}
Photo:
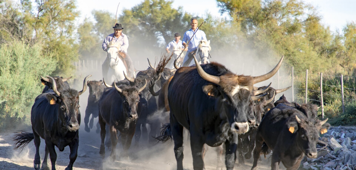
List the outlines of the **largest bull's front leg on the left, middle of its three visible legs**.
{"label": "largest bull's front leg on the left, middle of its three visible legs", "polygon": [[191,131],[191,149],[193,155],[194,170],[205,169],[204,160],[203,160],[204,157],[203,151],[205,151],[206,149],[204,149],[204,142],[202,141],[200,136],[197,136],[196,134],[192,133],[192,131]]}

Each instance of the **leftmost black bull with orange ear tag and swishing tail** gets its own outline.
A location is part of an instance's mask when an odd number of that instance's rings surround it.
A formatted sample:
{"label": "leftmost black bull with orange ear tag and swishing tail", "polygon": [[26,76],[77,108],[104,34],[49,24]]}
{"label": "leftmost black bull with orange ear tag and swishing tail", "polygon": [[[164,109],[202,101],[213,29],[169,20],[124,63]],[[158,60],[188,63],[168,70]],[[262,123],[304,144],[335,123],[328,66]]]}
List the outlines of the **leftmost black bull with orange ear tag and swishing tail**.
{"label": "leftmost black bull with orange ear tag and swishing tail", "polygon": [[[91,75],[87,77],[89,76]],[[42,169],[49,169],[47,157],[48,153],[50,153],[52,170],[55,170],[57,153],[54,146],[57,146],[60,151],[63,151],[64,147],[69,145],[70,162],[66,170],[70,170],[73,169],[73,163],[77,158],[79,145],[78,129],[80,125],[79,95],[86,90],[87,77],[84,79],[83,89],[79,92],[71,88],[59,92],[54,78],[48,77],[51,78],[53,82],[53,91],[50,90],[36,97],[31,109],[33,133],[19,132],[16,134],[14,137],[14,140],[17,141],[15,148],[24,148],[34,139],[36,146],[34,167],[35,169],[40,169],[40,137],[44,138],[46,148]]]}

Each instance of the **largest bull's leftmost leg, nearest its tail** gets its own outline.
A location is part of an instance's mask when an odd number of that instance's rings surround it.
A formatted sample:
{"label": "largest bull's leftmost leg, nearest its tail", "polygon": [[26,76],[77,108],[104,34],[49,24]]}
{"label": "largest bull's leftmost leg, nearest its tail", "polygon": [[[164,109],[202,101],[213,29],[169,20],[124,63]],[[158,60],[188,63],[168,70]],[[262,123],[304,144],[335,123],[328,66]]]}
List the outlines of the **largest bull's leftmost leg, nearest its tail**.
{"label": "largest bull's leftmost leg, nearest its tail", "polygon": [[183,126],[176,121],[172,114],[170,115],[170,128],[174,140],[174,155],[177,161],[177,170],[183,170]]}

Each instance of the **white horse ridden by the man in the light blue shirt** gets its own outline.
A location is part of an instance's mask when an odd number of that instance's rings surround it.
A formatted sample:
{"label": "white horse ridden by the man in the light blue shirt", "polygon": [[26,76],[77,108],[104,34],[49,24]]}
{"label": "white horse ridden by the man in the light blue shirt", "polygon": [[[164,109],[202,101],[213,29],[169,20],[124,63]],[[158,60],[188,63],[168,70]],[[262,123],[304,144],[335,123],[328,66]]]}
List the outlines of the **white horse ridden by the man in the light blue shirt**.
{"label": "white horse ridden by the man in the light blue shirt", "polygon": [[[210,47],[210,40],[201,40],[197,50],[196,50],[196,58],[199,62],[199,64],[206,64],[210,63],[208,57],[209,57],[209,52],[212,50]],[[191,62],[188,64],[188,66],[195,65],[194,59],[191,60]]]}

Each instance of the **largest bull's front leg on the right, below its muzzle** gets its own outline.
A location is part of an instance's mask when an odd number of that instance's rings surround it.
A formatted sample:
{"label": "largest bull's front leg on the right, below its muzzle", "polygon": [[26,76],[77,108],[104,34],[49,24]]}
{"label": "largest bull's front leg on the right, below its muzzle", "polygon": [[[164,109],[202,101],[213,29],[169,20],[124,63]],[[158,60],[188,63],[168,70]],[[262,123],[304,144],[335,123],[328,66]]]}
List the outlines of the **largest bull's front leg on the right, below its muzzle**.
{"label": "largest bull's front leg on the right, below its muzzle", "polygon": [[227,170],[233,170],[236,161],[237,133],[233,133],[230,140],[225,141],[225,165]]}

